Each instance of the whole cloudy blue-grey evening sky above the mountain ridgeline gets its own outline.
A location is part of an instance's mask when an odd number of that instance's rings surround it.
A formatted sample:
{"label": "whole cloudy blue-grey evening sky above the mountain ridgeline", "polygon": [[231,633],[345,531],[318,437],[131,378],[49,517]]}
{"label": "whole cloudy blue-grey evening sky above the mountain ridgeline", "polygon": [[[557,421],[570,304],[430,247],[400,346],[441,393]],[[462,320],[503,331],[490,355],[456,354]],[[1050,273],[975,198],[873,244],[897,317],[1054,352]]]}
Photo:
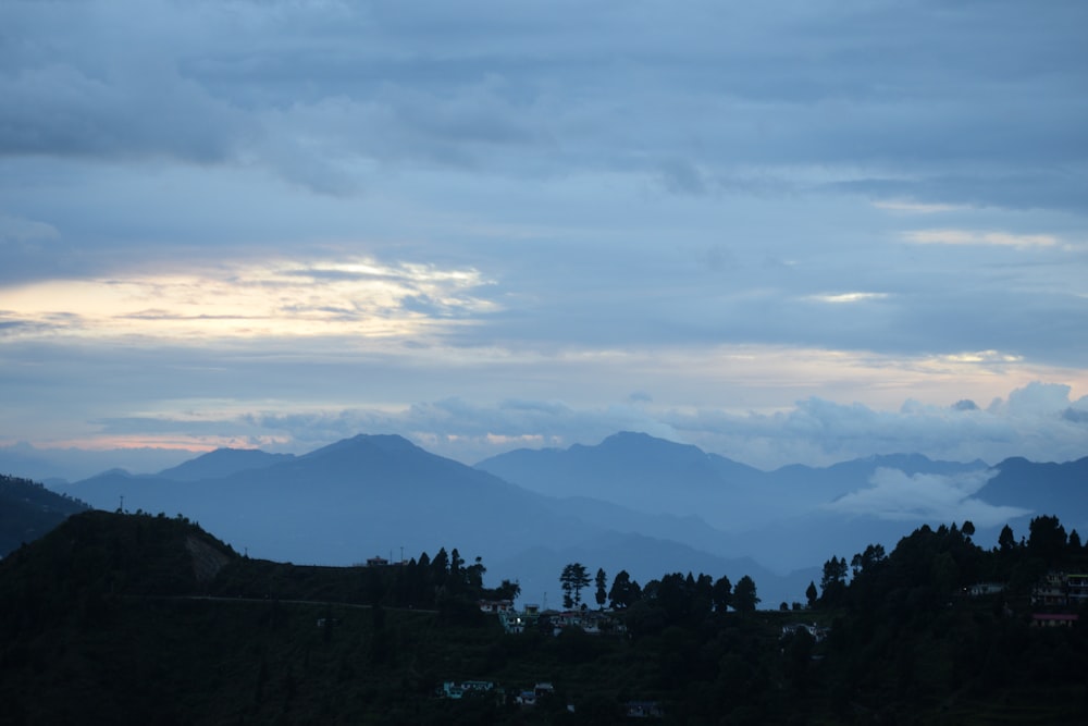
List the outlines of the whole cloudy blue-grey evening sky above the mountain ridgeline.
{"label": "whole cloudy blue-grey evening sky above the mountain ridgeline", "polygon": [[0,451],[1088,455],[1085,27],[5,0]]}

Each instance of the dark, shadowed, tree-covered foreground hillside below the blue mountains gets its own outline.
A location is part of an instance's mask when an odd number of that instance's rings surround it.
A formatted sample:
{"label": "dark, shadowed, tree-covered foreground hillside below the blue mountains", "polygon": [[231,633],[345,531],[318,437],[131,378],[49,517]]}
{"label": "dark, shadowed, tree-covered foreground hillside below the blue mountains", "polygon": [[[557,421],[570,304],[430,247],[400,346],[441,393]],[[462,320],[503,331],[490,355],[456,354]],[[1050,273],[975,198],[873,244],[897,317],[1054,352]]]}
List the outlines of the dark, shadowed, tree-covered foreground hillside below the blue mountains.
{"label": "dark, shadowed, tree-covered foreground hillside below the blue mountains", "polygon": [[[1079,538],[1040,517],[984,550],[972,529],[924,527],[852,568],[832,556],[804,611],[746,612],[739,583],[666,574],[619,603],[614,632],[555,636],[558,615],[507,633],[482,614],[509,593],[454,550],[299,567],[184,518],[86,513],[0,563],[0,721],[599,724],[640,702],[666,723],[1081,722],[1088,613],[1033,605],[1048,573],[1088,569]],[[965,594],[981,581],[1002,589]],[[1033,627],[1037,611],[1080,620]],[[438,696],[463,680],[495,689]],[[545,681],[554,694],[514,703]]]}

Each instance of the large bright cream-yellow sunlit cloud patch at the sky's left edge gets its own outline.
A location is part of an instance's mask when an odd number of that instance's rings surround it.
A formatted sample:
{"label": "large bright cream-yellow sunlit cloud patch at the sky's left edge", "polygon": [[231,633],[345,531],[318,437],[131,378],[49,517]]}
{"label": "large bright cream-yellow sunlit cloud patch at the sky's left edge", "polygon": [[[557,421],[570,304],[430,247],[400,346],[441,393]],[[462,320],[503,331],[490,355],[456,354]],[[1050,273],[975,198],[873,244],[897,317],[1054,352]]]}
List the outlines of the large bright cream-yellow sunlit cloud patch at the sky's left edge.
{"label": "large bright cream-yellow sunlit cloud patch at the sky's left edge", "polygon": [[3,315],[18,323],[9,336],[22,337],[407,337],[497,309],[475,295],[485,282],[472,269],[366,258],[222,263],[22,285],[7,292]]}

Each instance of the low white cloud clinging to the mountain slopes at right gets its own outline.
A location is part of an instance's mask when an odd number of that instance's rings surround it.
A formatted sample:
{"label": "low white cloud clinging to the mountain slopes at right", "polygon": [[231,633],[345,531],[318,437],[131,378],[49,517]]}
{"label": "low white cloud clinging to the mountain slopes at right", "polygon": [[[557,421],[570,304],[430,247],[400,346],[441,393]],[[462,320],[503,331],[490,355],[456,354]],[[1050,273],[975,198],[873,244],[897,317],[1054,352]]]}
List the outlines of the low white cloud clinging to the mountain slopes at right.
{"label": "low white cloud clinging to the mountain slopes at right", "polygon": [[954,476],[877,469],[868,489],[857,490],[824,505],[840,514],[870,516],[901,521],[970,520],[977,527],[992,527],[1029,509],[993,506],[974,499],[997,471],[979,469]]}

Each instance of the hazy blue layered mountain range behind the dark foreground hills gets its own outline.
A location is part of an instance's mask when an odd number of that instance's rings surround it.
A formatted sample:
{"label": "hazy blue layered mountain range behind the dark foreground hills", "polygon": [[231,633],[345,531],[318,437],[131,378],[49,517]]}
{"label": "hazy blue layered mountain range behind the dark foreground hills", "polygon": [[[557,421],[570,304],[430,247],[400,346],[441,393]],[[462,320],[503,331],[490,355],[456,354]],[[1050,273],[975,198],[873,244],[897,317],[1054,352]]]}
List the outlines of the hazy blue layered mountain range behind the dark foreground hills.
{"label": "hazy blue layered mountain range behind the dark foreground hills", "polygon": [[53,487],[99,508],[123,497],[127,510],[184,514],[270,559],[345,565],[458,547],[483,558],[489,580],[519,579],[529,602],[555,604],[559,573],[577,561],[641,581],[750,575],[775,606],[803,600],[830,556],[891,549],[920,524],[970,518],[977,541],[996,542],[1006,522],[1023,534],[1033,514],[1058,514],[1088,531],[1086,475],[1088,458],[991,467],[919,455],[767,472],[625,432],[475,467],[400,436],[358,435],[300,456],[219,450],[157,475],[113,470]]}

